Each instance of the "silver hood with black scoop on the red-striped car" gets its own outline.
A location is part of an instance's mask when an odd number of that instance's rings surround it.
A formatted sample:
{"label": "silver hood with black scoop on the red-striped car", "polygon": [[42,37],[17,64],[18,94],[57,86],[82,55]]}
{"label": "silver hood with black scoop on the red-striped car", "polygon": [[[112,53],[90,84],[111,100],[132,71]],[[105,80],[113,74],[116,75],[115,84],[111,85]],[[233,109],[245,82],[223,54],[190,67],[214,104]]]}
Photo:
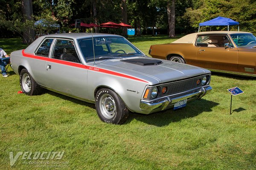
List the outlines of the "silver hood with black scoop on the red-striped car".
{"label": "silver hood with black scoop on the red-striped car", "polygon": [[[131,60],[143,59],[145,65],[141,63],[128,62]],[[126,61],[125,61],[126,60]],[[158,61],[155,65],[147,65],[150,62]],[[171,62],[162,59],[153,59],[151,57],[129,57],[124,59],[108,59],[98,62],[96,67],[111,70],[119,74],[125,74],[138,79],[143,79],[150,85],[170,82],[177,79],[186,79],[189,77],[209,74],[210,71],[192,65]]]}

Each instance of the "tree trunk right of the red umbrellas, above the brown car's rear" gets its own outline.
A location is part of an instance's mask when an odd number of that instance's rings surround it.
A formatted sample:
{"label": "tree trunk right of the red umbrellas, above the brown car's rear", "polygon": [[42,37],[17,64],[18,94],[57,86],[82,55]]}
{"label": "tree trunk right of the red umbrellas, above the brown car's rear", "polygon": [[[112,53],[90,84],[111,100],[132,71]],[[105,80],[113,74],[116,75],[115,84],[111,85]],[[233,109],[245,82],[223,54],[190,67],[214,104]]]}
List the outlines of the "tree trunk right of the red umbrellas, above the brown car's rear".
{"label": "tree trunk right of the red umbrellas, above the brown car's rear", "polygon": [[167,14],[169,24],[169,37],[175,37],[175,0],[168,0]]}

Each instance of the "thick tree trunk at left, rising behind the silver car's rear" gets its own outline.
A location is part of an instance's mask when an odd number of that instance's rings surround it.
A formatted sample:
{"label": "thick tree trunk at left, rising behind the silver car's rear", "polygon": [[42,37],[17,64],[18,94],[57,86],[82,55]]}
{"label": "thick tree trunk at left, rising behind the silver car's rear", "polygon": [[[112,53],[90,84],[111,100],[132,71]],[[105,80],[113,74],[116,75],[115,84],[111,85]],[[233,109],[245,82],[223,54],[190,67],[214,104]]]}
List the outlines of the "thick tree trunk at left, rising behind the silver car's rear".
{"label": "thick tree trunk at left, rising behind the silver car's rear", "polygon": [[[26,23],[26,20],[33,20],[32,0],[21,0],[21,10],[24,23]],[[25,30],[23,31],[23,43],[31,44],[34,38],[35,30],[30,27],[25,28]]]}

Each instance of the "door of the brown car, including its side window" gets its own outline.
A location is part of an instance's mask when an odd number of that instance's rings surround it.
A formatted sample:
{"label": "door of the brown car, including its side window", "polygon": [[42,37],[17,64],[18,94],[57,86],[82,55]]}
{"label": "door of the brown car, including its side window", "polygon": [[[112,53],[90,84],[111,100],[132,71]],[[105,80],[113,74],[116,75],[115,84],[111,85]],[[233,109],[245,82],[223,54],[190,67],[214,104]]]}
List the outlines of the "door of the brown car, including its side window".
{"label": "door of the brown car, including its side window", "polygon": [[230,42],[227,35],[199,35],[197,44],[200,44],[196,62],[199,67],[224,71],[238,70],[238,49],[227,48],[225,43]]}

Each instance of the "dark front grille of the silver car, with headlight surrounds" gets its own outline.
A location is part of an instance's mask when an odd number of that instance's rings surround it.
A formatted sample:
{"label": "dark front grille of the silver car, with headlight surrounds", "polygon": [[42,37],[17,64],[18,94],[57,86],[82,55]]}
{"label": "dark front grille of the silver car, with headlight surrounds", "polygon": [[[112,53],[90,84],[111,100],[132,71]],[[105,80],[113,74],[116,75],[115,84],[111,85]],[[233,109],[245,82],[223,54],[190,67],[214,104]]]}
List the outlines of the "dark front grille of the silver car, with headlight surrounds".
{"label": "dark front grille of the silver car, with headlight surrounds", "polygon": [[[169,96],[172,94],[178,94],[184,91],[188,91],[194,88],[200,88],[202,87],[201,82],[204,76],[200,76],[200,77],[193,77],[193,78],[189,78],[189,79],[183,79],[183,80],[178,80],[175,82],[169,82],[169,83],[165,83],[162,85],[158,85],[158,95],[156,98],[158,97],[162,97],[162,96]],[[210,75],[207,76],[207,85],[209,85],[210,82]],[[197,84],[198,80],[200,81],[199,85]],[[162,90],[163,88],[166,88],[166,92],[163,94]],[[149,93],[148,93],[148,97],[146,98],[146,100],[150,100],[151,99],[151,93],[152,93],[152,89],[153,87],[148,87],[149,89]],[[144,98],[145,99],[145,98]]]}

